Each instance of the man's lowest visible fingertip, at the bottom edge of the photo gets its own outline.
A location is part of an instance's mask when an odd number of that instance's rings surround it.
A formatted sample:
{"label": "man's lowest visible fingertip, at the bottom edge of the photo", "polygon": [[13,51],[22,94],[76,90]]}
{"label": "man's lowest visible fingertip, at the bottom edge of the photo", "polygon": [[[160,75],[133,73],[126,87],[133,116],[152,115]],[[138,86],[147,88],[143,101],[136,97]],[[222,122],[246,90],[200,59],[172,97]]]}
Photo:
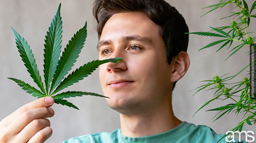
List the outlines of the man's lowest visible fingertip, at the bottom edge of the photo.
{"label": "man's lowest visible fingertip, at the bottom edge of the photo", "polygon": [[41,131],[37,132],[27,143],[43,143],[52,135],[51,127],[45,127]]}

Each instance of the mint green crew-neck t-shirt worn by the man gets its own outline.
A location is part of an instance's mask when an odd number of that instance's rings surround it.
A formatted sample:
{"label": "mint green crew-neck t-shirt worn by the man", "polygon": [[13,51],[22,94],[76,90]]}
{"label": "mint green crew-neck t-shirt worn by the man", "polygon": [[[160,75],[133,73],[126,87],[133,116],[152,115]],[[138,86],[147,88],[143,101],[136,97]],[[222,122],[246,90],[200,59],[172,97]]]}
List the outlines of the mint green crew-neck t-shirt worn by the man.
{"label": "mint green crew-neck t-shirt worn by the man", "polygon": [[[205,125],[182,122],[170,131],[145,137],[127,137],[121,134],[120,129],[111,133],[100,132],[78,136],[62,143],[216,143],[223,135],[217,135],[210,127]],[[237,139],[235,141],[238,142]],[[219,143],[226,142],[223,138]],[[243,142],[243,141],[242,141]]]}

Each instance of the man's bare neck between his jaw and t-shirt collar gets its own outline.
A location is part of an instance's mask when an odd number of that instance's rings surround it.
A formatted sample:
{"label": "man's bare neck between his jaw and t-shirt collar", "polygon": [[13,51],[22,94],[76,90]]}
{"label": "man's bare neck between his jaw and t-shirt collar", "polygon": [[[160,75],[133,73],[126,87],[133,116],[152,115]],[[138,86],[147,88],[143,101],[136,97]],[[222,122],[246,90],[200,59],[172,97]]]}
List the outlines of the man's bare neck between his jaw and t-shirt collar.
{"label": "man's bare neck between his jaw and t-shirt collar", "polygon": [[174,129],[182,121],[174,116],[171,105],[169,108],[166,106],[157,108],[157,111],[136,115],[120,114],[121,134],[128,137],[141,137]]}

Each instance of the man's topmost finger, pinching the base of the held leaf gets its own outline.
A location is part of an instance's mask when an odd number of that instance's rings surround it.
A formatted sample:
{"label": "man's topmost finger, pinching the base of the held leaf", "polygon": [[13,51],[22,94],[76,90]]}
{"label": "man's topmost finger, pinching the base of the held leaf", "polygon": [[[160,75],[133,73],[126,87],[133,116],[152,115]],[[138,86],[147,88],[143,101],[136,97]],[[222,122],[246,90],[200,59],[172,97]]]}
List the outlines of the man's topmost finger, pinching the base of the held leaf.
{"label": "man's topmost finger, pinching the base of the held leaf", "polygon": [[31,109],[36,109],[40,107],[50,107],[54,103],[54,99],[52,97],[42,97],[38,98],[37,100],[27,103],[26,105],[23,105],[16,111],[14,111],[11,115],[7,116],[0,122],[0,129],[7,127],[11,122],[16,119],[19,115],[21,115],[23,112],[26,112]]}

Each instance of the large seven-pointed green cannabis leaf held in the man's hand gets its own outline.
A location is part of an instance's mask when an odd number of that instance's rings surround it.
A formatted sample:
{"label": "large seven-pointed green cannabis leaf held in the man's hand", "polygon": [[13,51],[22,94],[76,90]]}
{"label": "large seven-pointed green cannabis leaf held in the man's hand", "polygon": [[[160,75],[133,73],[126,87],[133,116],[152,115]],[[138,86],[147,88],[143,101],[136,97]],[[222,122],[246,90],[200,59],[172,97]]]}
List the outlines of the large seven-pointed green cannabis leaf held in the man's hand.
{"label": "large seven-pointed green cannabis leaf held in the man's hand", "polygon": [[[37,98],[51,96],[54,98],[55,103],[66,105],[78,109],[73,103],[63,100],[63,98],[91,95],[91,96],[100,96],[97,93],[92,92],[82,92],[82,91],[67,91],[62,93],[57,93],[63,90],[64,88],[77,83],[83,78],[91,75],[97,67],[107,62],[120,62],[122,58],[110,58],[106,60],[95,60],[86,63],[85,65],[77,68],[75,71],[70,73],[68,76],[68,71],[71,70],[72,66],[76,62],[83,45],[87,37],[87,22],[85,26],[79,29],[68,42],[65,50],[61,53],[61,38],[62,38],[62,18],[60,14],[61,4],[58,6],[58,10],[53,17],[50,27],[48,28],[47,34],[45,36],[45,49],[44,49],[44,77],[45,77],[45,86],[43,85],[42,78],[38,71],[36,60],[33,56],[32,50],[28,45],[27,41],[24,40],[12,27],[14,32],[18,52],[24,62],[24,65],[27,68],[29,75],[32,77],[33,81],[36,83],[38,90],[35,87],[32,87],[28,83],[18,80],[16,78],[8,77],[10,80],[18,83],[18,85],[27,93],[30,93],[32,96]],[[65,77],[66,76],[66,77]]]}

